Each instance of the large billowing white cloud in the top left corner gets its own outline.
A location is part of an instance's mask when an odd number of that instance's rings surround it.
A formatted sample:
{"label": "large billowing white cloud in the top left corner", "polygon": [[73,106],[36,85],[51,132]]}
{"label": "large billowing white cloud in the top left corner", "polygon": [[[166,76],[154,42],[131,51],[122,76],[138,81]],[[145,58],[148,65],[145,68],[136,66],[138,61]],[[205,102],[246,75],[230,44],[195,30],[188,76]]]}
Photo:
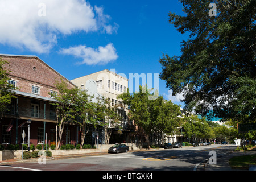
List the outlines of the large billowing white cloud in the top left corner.
{"label": "large billowing white cloud in the top left corner", "polygon": [[59,34],[112,34],[118,28],[108,24],[110,16],[102,7],[93,8],[85,0],[1,0],[0,7],[0,43],[37,53],[48,53]]}

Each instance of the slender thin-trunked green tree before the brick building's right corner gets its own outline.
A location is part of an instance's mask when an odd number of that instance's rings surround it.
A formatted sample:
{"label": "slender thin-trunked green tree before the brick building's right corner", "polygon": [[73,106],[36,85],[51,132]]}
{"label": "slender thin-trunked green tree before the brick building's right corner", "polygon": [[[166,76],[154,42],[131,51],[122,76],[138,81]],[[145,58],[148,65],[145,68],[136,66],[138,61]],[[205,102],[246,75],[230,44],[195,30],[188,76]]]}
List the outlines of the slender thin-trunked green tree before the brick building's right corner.
{"label": "slender thin-trunked green tree before the brick building's right corner", "polygon": [[65,125],[79,123],[82,139],[85,137],[86,123],[93,121],[88,117],[93,106],[84,90],[70,88],[63,80],[56,83],[56,88],[58,92],[53,96],[56,102],[52,105],[56,107],[56,149],[59,149]]}

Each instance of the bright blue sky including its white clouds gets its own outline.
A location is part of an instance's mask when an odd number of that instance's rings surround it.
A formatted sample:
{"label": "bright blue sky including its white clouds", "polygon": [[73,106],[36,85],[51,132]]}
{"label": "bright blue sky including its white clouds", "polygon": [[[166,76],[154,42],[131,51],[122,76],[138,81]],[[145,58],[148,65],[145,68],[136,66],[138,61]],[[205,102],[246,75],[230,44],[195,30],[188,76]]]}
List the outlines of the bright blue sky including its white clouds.
{"label": "bright blue sky including its white clouds", "polygon": [[[159,57],[180,54],[188,38],[168,22],[183,14],[177,0],[1,0],[0,53],[36,55],[72,80],[103,69],[160,73]],[[159,93],[175,104],[159,80]]]}

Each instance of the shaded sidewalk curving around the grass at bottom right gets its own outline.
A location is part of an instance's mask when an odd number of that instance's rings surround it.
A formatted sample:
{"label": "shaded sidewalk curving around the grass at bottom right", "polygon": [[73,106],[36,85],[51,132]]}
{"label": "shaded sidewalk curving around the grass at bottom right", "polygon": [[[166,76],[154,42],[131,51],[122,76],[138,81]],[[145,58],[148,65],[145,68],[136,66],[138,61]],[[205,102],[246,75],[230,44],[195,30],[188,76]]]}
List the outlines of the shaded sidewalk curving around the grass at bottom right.
{"label": "shaded sidewalk curving around the grass at bottom right", "polygon": [[242,170],[232,169],[229,165],[229,159],[233,158],[234,156],[243,156],[243,155],[256,155],[256,148],[254,148],[253,150],[245,151],[245,152],[232,151],[232,152],[229,152],[228,154],[217,156],[217,164],[209,164],[207,161],[203,166],[204,170],[205,171],[242,171]]}

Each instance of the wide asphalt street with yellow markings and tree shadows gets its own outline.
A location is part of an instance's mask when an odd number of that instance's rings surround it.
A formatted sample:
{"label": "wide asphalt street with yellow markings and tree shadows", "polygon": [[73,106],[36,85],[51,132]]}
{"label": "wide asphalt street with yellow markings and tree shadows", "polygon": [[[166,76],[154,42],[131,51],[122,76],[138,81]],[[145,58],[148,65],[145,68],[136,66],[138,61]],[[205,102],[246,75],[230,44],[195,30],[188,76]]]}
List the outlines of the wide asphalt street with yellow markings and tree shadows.
{"label": "wide asphalt street with yellow markings and tree shadows", "polygon": [[218,156],[234,150],[234,144],[172,148],[93,155],[79,158],[47,160],[45,164],[25,162],[1,165],[0,171],[198,171],[199,165],[209,159],[210,151]]}

